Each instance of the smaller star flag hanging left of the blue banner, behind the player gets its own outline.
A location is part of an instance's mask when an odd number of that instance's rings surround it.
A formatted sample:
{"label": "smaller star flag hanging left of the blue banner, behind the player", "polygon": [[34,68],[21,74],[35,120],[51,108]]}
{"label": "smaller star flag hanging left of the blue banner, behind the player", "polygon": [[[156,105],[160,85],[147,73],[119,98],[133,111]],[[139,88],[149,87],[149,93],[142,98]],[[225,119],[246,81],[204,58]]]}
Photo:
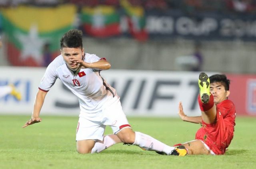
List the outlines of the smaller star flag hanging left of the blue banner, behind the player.
{"label": "smaller star flag hanging left of the blue banner, behind the player", "polygon": [[114,6],[96,6],[82,8],[84,31],[94,37],[120,35],[120,15]]}

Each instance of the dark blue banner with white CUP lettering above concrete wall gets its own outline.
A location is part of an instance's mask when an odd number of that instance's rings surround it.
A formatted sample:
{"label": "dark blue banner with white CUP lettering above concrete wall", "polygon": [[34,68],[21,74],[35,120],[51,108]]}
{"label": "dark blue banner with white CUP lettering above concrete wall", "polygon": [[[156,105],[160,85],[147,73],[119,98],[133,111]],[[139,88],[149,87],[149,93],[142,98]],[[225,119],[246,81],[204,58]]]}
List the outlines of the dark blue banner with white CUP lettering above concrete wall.
{"label": "dark blue banner with white CUP lettering above concrete wall", "polygon": [[[145,10],[143,16],[134,14],[131,17],[125,15],[122,9],[117,10],[116,14],[120,15],[120,34],[115,37],[128,36],[140,40],[138,37],[142,36],[140,35],[141,33],[143,36],[147,35],[147,38],[141,38],[143,40],[178,37],[197,40],[256,40],[255,15],[216,12],[187,14],[181,10],[164,12]],[[98,13],[95,15],[97,17],[92,18],[97,18],[95,20],[95,22],[97,21],[96,23],[98,23],[100,16],[104,17],[104,15],[99,15]],[[94,16],[93,13],[92,16]],[[145,20],[144,32],[141,31],[141,18]],[[136,36],[133,36],[131,30],[136,33]],[[84,32],[86,33],[86,30]],[[98,34],[100,35],[100,32]],[[90,34],[87,34],[87,36],[90,36]]]}

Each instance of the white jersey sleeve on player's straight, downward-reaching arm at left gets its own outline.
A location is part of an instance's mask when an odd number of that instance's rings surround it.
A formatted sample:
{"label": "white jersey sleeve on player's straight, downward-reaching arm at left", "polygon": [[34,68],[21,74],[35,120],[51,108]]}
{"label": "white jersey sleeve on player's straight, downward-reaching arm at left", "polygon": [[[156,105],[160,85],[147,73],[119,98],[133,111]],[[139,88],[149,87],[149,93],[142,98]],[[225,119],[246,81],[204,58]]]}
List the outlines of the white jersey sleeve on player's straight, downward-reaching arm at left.
{"label": "white jersey sleeve on player's straight, downward-reaching arm at left", "polygon": [[38,88],[42,91],[49,91],[52,85],[54,85],[54,83],[56,82],[57,78],[58,77],[56,74],[56,70],[54,69],[54,64],[51,63],[47,67]]}

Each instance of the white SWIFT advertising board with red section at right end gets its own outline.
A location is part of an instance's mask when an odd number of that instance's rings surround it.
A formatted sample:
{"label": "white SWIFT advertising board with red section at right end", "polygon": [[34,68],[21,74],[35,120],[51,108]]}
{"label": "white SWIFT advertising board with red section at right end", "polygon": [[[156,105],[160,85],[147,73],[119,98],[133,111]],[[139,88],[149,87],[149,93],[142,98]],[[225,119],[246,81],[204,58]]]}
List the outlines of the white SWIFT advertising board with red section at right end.
{"label": "white SWIFT advertising board with red section at right end", "polygon": [[[31,114],[34,98],[45,68],[0,67],[0,85],[14,84],[22,100],[12,95],[0,98],[0,114]],[[207,72],[208,75],[216,72]],[[177,117],[182,101],[187,115],[200,115],[197,103],[198,72],[107,70],[101,76],[120,96],[126,115]],[[241,115],[256,115],[256,76],[228,75],[232,80],[230,99]],[[242,99],[241,99],[242,98]],[[242,104],[241,104],[242,102]],[[78,115],[78,99],[60,80],[46,95],[42,115]]]}

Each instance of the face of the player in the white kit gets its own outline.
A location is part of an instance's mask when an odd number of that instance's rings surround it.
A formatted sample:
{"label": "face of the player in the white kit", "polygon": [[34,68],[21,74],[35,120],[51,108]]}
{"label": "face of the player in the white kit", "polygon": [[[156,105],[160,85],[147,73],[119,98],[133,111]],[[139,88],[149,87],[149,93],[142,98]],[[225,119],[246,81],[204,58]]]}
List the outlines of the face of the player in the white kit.
{"label": "face of the player in the white kit", "polygon": [[60,52],[67,66],[71,69],[76,69],[78,64],[72,60],[74,58],[82,59],[84,55],[84,48],[62,48]]}

